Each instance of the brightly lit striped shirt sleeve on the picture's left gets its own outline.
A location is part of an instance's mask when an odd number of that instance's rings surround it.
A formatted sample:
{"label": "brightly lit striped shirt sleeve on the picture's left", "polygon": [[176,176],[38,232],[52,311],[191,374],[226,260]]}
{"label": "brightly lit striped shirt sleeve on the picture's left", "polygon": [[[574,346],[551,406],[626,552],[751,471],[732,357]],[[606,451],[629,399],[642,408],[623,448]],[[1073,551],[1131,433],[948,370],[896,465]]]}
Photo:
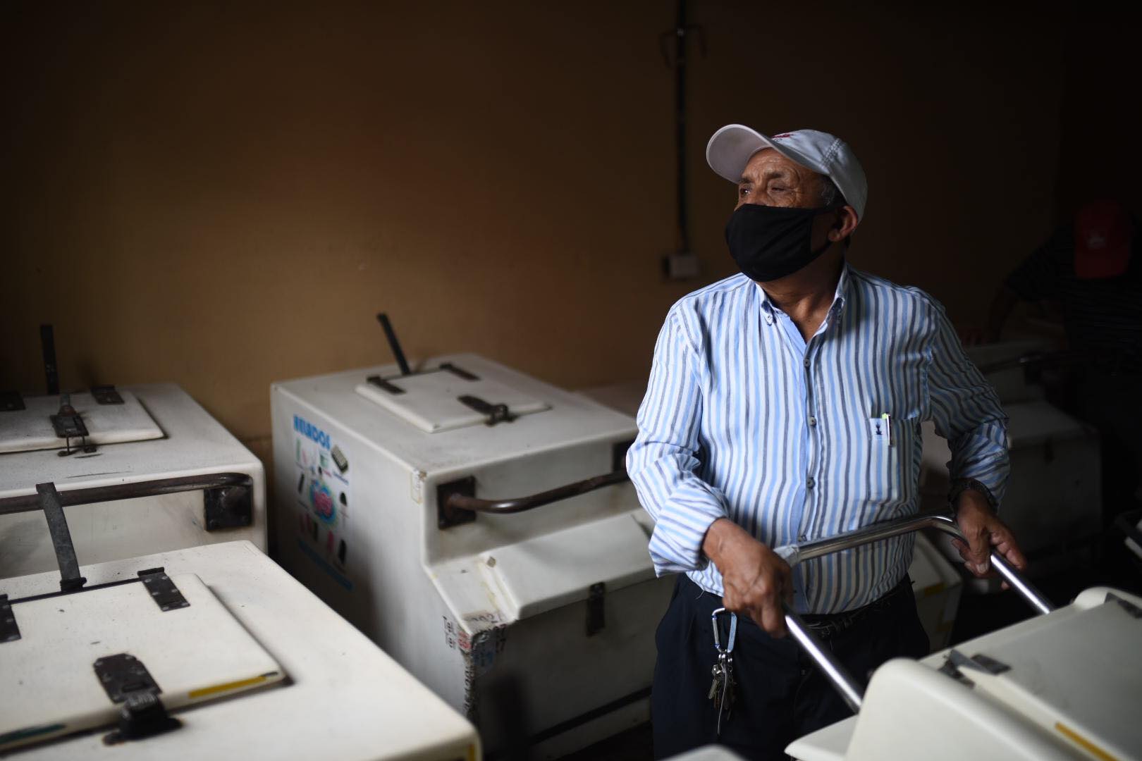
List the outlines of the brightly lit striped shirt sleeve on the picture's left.
{"label": "brightly lit striped shirt sleeve on the picture's left", "polygon": [[659,576],[705,568],[706,531],[726,517],[722,493],[695,473],[702,414],[698,356],[671,310],[654,347],[638,437],[627,451],[638,501],[656,521],[649,549]]}

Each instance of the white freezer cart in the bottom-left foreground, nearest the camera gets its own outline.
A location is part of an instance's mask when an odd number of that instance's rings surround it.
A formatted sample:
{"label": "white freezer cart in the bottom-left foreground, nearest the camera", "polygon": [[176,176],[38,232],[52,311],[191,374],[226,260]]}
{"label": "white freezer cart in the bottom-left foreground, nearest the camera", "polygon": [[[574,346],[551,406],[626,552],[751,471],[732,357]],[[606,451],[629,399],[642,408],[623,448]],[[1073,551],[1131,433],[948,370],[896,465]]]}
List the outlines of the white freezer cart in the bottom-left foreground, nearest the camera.
{"label": "white freezer cart in the bottom-left foreground, nearest the camera", "polygon": [[[153,597],[154,568],[182,602]],[[467,721],[250,542],[82,573],[70,593],[57,573],[0,580],[7,759],[480,758]],[[180,726],[105,743],[139,693]]]}

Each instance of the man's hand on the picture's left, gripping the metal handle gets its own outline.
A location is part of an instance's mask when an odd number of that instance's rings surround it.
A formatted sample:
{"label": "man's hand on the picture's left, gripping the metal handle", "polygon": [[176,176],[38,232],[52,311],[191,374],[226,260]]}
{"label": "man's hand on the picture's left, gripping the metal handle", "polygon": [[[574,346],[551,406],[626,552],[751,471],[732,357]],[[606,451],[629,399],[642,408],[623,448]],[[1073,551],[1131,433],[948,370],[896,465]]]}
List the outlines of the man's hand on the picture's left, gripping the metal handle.
{"label": "man's hand on the picture's left, gripping the metal handle", "polygon": [[773,637],[785,637],[781,601],[793,600],[789,564],[727,518],[710,524],[702,552],[722,572],[722,604]]}

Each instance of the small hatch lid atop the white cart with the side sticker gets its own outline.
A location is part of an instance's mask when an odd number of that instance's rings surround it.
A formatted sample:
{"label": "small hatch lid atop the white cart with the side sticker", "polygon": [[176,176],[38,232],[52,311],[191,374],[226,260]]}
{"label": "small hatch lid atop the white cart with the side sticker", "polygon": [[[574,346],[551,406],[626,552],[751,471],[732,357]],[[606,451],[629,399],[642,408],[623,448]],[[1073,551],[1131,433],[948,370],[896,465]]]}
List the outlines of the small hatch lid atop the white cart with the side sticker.
{"label": "small hatch lid atop the white cart with the side sticker", "polygon": [[550,410],[508,383],[452,365],[394,378],[371,375],[355,390],[426,434],[484,426],[505,412],[510,419]]}

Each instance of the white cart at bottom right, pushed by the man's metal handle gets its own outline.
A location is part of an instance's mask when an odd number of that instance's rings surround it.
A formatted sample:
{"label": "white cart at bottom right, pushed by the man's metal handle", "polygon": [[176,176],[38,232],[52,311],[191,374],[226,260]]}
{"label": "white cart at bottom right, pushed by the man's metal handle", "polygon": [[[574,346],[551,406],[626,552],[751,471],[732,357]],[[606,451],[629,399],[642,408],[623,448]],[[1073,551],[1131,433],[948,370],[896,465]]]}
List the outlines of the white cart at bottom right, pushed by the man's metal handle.
{"label": "white cart at bottom right, pushed by the man's metal handle", "polygon": [[1065,607],[919,662],[890,661],[860,713],[793,743],[801,761],[1142,759],[1142,598]]}

